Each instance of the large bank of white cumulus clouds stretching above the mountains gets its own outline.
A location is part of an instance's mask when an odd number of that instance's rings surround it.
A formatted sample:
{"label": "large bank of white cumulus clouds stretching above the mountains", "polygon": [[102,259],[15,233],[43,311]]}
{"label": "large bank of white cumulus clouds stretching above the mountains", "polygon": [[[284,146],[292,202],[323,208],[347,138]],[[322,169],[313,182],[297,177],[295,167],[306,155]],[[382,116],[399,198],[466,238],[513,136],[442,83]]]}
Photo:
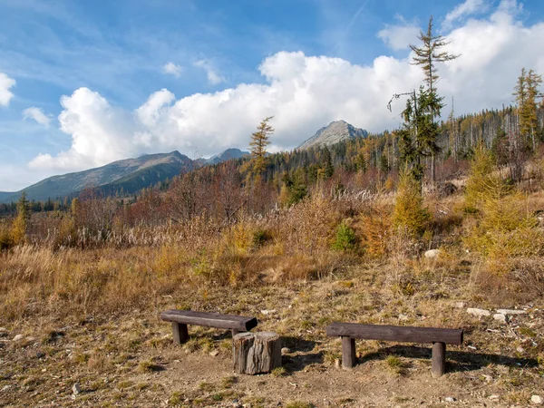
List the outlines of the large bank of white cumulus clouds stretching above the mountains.
{"label": "large bank of white cumulus clouds stretching above the mountains", "polygon": [[[448,34],[448,51],[461,57],[439,64],[437,86],[446,101],[455,98],[458,114],[509,104],[522,66],[544,73],[544,23],[524,26],[504,5]],[[163,89],[131,112],[80,88],[61,100],[59,122],[72,137],[72,147],[56,156],[40,155],[32,166],[81,170],[141,153],[196,149],[208,156],[228,147],[247,148],[258,122],[271,115],[275,150],[293,148],[339,119],[368,131],[391,130],[402,122],[403,109],[402,101],[393,104],[393,113],[386,109],[392,94],[411,91],[423,79],[410,57],[384,55],[357,65],[279,52],[258,69],[264,83],[240,83],[180,99]]]}

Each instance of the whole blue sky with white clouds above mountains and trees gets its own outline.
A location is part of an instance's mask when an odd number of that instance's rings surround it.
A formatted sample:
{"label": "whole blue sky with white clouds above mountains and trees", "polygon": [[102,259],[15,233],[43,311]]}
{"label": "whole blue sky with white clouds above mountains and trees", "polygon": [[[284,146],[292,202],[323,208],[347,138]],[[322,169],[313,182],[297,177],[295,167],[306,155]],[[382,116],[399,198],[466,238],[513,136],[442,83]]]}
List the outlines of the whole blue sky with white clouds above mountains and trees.
{"label": "whole blue sky with white clouds above mountains and trees", "polygon": [[270,151],[330,121],[401,124],[423,79],[409,44],[433,16],[444,116],[513,102],[544,73],[541,0],[0,0],[0,191],[113,160]]}

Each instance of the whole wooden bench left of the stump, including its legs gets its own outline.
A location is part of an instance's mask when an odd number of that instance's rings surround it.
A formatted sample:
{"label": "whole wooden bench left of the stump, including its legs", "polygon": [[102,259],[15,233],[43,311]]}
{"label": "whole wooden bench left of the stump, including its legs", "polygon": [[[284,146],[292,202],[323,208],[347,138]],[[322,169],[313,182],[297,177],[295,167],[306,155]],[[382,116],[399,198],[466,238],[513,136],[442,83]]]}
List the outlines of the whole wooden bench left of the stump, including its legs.
{"label": "whole wooden bench left of the stump, including its legs", "polygon": [[257,326],[257,318],[250,316],[220,315],[219,313],[194,312],[192,310],[165,310],[160,318],[172,322],[174,344],[180,345],[189,340],[187,325],[203,325],[229,329],[232,335],[248,332]]}

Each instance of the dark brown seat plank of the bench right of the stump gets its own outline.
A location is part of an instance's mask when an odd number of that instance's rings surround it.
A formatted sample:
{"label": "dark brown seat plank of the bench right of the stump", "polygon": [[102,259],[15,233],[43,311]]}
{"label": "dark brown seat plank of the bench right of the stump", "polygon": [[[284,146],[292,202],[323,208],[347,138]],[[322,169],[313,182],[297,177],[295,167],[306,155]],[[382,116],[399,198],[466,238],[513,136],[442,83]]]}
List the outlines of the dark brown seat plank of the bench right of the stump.
{"label": "dark brown seat plank of the bench right of the stump", "polygon": [[462,344],[461,329],[407,327],[398,325],[359,325],[335,322],[326,327],[326,335],[404,343]]}

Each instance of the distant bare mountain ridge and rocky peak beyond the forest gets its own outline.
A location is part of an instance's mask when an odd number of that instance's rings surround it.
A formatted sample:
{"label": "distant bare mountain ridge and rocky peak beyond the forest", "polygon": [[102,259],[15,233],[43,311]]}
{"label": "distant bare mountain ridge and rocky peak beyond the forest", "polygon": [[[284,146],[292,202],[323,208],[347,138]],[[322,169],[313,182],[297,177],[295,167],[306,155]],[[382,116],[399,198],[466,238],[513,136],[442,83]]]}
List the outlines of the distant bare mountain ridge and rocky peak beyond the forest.
{"label": "distant bare mountain ridge and rocky peak beyond the forest", "polygon": [[[346,139],[366,136],[366,131],[357,129],[345,121],[333,121],[317,131],[297,149],[319,148]],[[114,161],[96,169],[53,176],[20,191],[0,191],[0,202],[16,201],[23,191],[26,193],[27,199],[31,200],[74,197],[90,186],[97,187],[107,195],[115,194],[121,190],[124,194],[133,194],[160,181],[171,179],[180,173],[201,166],[218,164],[225,160],[240,159],[248,155],[248,151],[240,151],[239,149],[228,149],[209,159],[198,160],[191,160],[179,151],[146,154],[138,159]]]}

